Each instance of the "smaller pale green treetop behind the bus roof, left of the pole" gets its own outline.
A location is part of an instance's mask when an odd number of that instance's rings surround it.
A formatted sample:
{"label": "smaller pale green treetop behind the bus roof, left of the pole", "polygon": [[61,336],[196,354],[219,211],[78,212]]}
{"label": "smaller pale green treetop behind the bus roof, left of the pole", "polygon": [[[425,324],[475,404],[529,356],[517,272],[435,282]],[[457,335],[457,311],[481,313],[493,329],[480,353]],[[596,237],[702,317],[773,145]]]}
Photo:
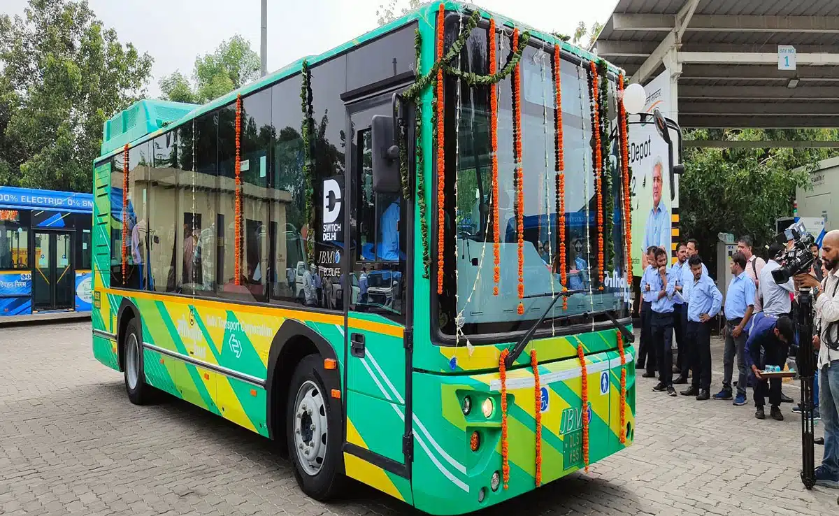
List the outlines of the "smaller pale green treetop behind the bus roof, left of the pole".
{"label": "smaller pale green treetop behind the bus roof, left of the pole", "polygon": [[233,91],[259,76],[259,55],[239,34],[216,50],[195,58],[192,80],[175,70],[159,81],[164,100],[202,104]]}

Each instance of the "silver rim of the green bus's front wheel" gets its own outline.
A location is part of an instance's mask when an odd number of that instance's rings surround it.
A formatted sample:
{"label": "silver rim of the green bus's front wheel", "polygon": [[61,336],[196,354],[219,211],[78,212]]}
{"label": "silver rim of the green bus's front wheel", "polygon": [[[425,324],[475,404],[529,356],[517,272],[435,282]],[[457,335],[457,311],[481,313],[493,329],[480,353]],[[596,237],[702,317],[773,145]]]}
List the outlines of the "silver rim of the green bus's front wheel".
{"label": "silver rim of the green bus's front wheel", "polygon": [[328,425],[323,394],[314,382],[306,380],[294,401],[294,449],[300,467],[310,477],[320,472],[326,460]]}

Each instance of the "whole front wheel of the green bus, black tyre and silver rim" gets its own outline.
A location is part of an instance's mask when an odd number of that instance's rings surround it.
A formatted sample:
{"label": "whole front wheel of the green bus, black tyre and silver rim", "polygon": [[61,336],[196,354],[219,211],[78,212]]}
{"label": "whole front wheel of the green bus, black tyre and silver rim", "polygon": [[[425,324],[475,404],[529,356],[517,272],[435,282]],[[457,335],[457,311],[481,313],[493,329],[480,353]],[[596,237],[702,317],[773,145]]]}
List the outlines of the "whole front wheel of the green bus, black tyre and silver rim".
{"label": "whole front wheel of the green bus, black tyre and silver rim", "polygon": [[294,369],[289,385],[286,435],[294,477],[300,489],[315,500],[341,493],[341,411],[326,394],[326,371],[320,355],[309,355]]}

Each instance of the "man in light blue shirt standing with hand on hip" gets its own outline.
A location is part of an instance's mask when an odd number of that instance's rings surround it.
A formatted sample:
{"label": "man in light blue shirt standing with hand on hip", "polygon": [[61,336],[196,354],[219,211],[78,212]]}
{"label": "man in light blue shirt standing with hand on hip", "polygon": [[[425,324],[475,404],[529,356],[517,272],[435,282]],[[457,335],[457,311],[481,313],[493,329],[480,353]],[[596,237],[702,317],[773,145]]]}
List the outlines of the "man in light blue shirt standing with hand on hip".
{"label": "man in light blue shirt standing with hand on hip", "polygon": [[690,349],[690,360],[685,357],[685,362],[690,363],[693,378],[690,388],[681,394],[704,401],[711,398],[711,320],[720,312],[722,293],[707,274],[702,274],[703,264],[699,256],[690,257],[688,265],[693,272],[693,280],[690,303],[685,303],[689,307],[685,340],[689,342]]}

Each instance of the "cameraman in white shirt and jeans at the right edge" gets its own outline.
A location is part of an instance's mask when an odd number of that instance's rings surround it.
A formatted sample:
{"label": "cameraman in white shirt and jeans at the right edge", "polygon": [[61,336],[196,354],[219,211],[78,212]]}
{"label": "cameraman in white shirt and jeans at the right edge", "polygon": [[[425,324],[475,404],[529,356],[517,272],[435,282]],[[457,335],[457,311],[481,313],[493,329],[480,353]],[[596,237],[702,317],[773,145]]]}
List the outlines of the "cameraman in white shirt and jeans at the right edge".
{"label": "cameraman in white shirt and jeans at the right edge", "polygon": [[824,290],[810,274],[795,276],[799,288],[810,288],[816,297],[818,330],[813,347],[819,350],[819,409],[825,425],[825,456],[816,468],[816,484],[839,487],[839,231],[828,232],[822,242],[822,260],[829,271]]}

